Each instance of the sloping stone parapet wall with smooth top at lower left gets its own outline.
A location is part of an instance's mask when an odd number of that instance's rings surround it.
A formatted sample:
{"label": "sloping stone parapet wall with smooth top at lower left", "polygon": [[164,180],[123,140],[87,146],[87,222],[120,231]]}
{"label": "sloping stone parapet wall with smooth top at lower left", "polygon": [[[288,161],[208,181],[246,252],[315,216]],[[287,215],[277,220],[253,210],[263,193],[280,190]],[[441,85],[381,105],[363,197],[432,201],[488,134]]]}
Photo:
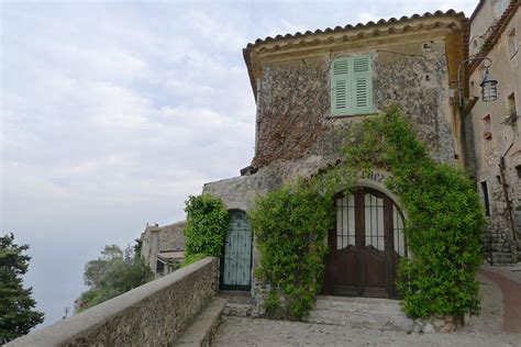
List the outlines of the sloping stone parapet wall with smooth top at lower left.
{"label": "sloping stone parapet wall with smooth top at lower left", "polygon": [[214,295],[218,266],[204,258],[7,346],[166,346]]}

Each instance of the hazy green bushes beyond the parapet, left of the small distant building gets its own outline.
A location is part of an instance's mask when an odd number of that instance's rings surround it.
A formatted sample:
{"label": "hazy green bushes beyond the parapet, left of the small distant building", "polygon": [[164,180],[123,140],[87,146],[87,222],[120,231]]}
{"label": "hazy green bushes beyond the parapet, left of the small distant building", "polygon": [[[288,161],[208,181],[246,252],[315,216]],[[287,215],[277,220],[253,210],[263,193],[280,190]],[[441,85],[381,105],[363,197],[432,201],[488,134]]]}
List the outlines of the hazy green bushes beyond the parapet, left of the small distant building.
{"label": "hazy green bushes beyond the parapet, left of the small distant building", "polygon": [[76,312],[123,294],[154,278],[137,253],[140,246],[129,246],[124,250],[117,245],[106,246],[101,257],[86,264],[84,281],[90,289],[75,302]]}

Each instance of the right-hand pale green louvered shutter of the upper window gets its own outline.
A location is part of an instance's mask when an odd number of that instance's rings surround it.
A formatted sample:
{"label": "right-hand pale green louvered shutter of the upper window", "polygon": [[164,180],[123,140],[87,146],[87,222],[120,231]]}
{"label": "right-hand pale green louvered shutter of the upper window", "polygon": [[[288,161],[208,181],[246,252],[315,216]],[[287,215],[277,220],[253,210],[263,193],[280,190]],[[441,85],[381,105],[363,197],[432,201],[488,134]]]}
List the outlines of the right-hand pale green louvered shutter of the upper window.
{"label": "right-hand pale green louvered shutter of the upper window", "polygon": [[373,82],[370,70],[369,56],[353,58],[353,113],[373,112]]}

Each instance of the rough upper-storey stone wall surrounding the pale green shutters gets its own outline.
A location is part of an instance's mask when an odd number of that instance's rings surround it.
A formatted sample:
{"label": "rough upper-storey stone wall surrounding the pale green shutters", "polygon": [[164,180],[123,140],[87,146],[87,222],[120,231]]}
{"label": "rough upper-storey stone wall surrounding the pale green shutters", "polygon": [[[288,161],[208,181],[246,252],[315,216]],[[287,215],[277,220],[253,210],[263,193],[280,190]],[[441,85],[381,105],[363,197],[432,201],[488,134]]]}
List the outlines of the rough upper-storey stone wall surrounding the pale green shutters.
{"label": "rough upper-storey stone wall surrounding the pale green shutters", "polygon": [[[398,104],[411,119],[418,137],[433,158],[452,163],[457,147],[450,122],[448,71],[445,43],[431,41],[361,49],[373,57],[373,99],[376,111]],[[258,142],[253,165],[307,157],[339,157],[343,133],[367,115],[330,116],[332,58],[314,57],[266,64],[258,97]]]}

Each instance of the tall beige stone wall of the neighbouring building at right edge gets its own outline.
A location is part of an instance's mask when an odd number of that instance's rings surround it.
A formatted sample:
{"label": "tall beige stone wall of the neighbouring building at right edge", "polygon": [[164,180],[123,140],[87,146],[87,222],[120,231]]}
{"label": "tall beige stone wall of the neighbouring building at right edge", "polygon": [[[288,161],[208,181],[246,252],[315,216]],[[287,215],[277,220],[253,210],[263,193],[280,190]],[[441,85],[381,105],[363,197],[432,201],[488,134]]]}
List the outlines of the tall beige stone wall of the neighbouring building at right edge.
{"label": "tall beige stone wall of the neighbouring building at right edge", "polygon": [[[481,10],[484,13],[489,13],[488,2]],[[518,33],[521,32],[521,9],[513,8],[512,11],[516,12],[510,21],[498,26],[506,30],[487,53],[492,60],[489,74],[498,80],[498,99],[491,102],[479,99],[465,116],[467,152],[470,154],[468,168],[476,178],[484,201],[485,184],[488,190],[490,227],[484,239],[485,255],[495,265],[514,264],[519,260],[518,256],[521,258],[521,175],[518,174],[521,169],[521,55],[518,52],[511,56],[508,43],[509,30],[516,27]],[[484,20],[481,14],[477,15],[472,22],[472,31],[483,33],[488,27],[483,25]],[[470,71],[470,96],[480,96],[484,74],[483,65]],[[509,97],[512,99],[509,100]],[[517,111],[517,119],[508,124],[506,117],[512,108]],[[502,170],[501,161],[505,164]]]}

